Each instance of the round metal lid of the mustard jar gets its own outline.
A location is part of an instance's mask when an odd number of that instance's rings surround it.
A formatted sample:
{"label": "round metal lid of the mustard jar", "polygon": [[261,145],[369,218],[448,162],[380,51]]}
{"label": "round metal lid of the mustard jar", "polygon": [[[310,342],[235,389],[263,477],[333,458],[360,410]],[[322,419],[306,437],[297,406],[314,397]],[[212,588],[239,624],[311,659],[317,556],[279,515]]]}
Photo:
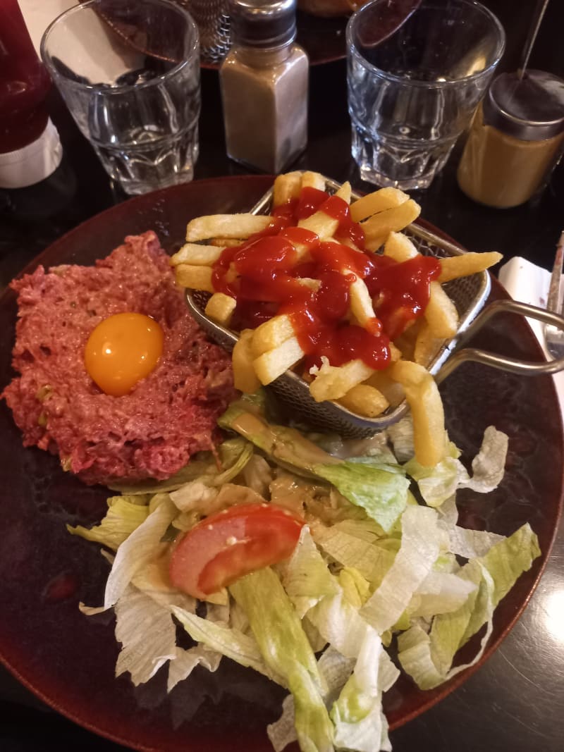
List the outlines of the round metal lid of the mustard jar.
{"label": "round metal lid of the mustard jar", "polygon": [[564,131],[564,81],[544,71],[502,73],[484,99],[484,122],[521,141]]}

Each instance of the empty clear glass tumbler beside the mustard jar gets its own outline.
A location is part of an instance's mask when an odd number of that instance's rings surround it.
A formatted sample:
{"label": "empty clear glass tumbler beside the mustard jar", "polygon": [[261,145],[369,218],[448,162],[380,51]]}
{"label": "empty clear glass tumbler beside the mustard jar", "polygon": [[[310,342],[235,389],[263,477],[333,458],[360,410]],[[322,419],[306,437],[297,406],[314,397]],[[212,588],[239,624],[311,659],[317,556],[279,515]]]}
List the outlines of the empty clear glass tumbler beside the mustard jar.
{"label": "empty clear glass tumbler beside the mustard jar", "polygon": [[429,186],[504,47],[499,20],[474,0],[372,0],[353,14],[347,83],[362,179],[405,190]]}

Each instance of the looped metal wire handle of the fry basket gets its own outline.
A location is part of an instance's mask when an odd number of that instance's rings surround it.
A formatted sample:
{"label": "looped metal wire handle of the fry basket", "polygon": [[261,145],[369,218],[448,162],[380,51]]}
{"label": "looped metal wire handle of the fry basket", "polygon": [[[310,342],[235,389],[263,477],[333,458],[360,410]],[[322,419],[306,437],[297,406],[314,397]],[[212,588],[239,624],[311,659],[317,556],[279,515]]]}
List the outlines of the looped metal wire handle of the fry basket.
{"label": "looped metal wire handle of the fry basket", "polygon": [[[552,324],[564,332],[564,317],[555,314],[552,311],[546,311],[544,308],[537,308],[535,305],[521,303],[516,300],[496,300],[487,308],[484,308],[475,320],[463,332],[459,340],[456,341],[456,348],[459,348],[465,341],[468,341],[479,329],[484,326],[493,316],[501,313],[513,313],[526,316],[547,324]],[[435,376],[435,380],[440,383],[449,376],[455,368],[461,363],[474,361],[482,365],[491,365],[493,368],[499,368],[502,371],[510,371],[515,374],[524,374],[527,376],[536,376],[538,374],[555,374],[564,369],[564,356],[547,362],[534,362],[527,360],[518,360],[517,358],[508,358],[504,355],[489,353],[486,350],[478,350],[474,347],[462,347],[456,349],[450,358],[444,363],[441,370]]]}

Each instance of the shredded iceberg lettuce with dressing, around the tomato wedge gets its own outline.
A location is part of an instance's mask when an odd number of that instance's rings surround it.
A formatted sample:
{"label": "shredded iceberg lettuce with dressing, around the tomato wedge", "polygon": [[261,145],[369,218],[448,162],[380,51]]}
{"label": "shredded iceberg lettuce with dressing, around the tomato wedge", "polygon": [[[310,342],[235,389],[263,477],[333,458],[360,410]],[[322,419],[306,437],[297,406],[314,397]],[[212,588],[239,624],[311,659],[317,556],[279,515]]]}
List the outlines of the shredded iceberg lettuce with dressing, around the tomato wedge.
{"label": "shredded iceberg lettuce with dressing, around the tomato wedge", "polygon": [[[434,468],[419,465],[409,419],[378,441],[341,441],[271,425],[263,407],[241,399],[226,411],[220,425],[239,435],[220,445],[219,464],[201,453],[169,481],[108,499],[98,526],[69,528],[116,552],[104,606],[82,610],[114,608],[116,672],[135,684],[168,666],[171,690],[225,656],[287,688],[268,726],[275,752],[296,739],[302,752],[390,750],[383,698],[399,666],[421,689],[472,666],[499,600],[540,554],[528,525],[505,538],[458,523],[457,491],[499,484],[507,437],[486,429],[470,474],[453,444]],[[174,537],[256,502],[304,517],[293,555],[232,582],[196,614],[196,600],[168,578]],[[194,647],[177,645],[178,626]],[[481,630],[474,658],[457,665]]]}

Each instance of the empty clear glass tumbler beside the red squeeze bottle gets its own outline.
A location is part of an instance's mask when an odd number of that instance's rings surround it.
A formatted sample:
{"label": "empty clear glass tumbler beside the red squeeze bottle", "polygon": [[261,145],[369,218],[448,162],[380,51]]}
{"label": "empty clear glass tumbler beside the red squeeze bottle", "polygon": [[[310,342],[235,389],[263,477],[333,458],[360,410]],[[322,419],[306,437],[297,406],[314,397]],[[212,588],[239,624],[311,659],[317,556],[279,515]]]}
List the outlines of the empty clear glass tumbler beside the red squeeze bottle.
{"label": "empty clear glass tumbler beside the red squeeze bottle", "polygon": [[129,194],[186,183],[198,158],[199,37],[168,0],[89,0],[41,56],[77,126]]}

